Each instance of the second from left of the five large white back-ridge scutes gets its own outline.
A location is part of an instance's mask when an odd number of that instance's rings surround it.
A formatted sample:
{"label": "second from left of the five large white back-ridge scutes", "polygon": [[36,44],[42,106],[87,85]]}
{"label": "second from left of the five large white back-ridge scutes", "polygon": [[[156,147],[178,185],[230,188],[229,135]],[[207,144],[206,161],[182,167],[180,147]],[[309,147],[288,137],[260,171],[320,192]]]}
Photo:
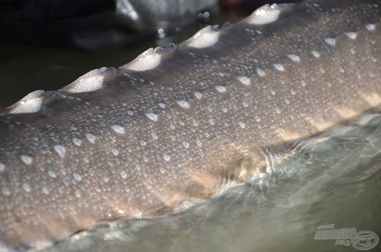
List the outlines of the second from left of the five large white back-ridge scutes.
{"label": "second from left of the five large white back-ridge scutes", "polygon": [[91,70],[90,72],[82,75],[66,87],[61,88],[61,90],[71,93],[84,93],[95,91],[103,86],[103,79],[106,71],[106,67]]}

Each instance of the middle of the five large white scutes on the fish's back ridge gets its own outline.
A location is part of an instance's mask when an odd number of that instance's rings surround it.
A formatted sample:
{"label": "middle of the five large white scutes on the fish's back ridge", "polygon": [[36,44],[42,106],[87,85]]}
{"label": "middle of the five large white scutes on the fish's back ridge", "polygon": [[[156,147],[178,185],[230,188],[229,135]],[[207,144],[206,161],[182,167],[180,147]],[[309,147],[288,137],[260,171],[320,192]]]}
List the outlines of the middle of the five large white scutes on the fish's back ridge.
{"label": "middle of the five large white scutes on the fish's back ridge", "polygon": [[161,54],[156,51],[157,49],[149,48],[130,63],[123,65],[122,68],[138,72],[154,69],[160,64],[161,58]]}

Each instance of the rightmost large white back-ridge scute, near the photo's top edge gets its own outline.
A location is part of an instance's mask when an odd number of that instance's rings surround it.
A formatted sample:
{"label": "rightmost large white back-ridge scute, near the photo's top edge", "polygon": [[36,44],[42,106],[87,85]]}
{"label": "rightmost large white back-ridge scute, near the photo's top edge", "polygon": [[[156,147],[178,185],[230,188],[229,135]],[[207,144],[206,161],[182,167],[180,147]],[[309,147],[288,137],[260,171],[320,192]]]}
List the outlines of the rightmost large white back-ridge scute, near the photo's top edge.
{"label": "rightmost large white back-ridge scute, near the photo's top edge", "polygon": [[270,24],[279,18],[280,10],[281,7],[276,3],[272,5],[267,3],[243,20],[249,24]]}

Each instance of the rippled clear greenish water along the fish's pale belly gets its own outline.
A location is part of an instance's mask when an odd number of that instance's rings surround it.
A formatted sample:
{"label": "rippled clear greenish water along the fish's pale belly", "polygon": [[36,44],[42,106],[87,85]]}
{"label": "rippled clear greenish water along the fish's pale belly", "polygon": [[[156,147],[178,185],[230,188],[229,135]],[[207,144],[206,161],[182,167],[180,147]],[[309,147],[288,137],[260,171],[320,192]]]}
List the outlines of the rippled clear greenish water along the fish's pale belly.
{"label": "rippled clear greenish water along the fish's pale belly", "polygon": [[381,236],[381,114],[267,151],[259,181],[170,216],[100,223],[47,251],[357,251],[315,240],[326,224]]}

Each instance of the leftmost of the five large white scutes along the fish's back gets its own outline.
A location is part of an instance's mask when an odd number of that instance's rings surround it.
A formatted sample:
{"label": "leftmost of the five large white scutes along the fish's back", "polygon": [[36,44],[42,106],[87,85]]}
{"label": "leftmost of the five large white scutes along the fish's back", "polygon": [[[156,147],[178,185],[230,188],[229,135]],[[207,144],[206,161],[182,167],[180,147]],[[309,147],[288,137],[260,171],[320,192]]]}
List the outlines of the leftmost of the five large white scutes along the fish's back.
{"label": "leftmost of the five large white scutes along the fish's back", "polygon": [[9,106],[5,110],[8,110],[9,114],[21,114],[21,113],[35,113],[41,108],[43,90],[33,91],[27,94],[24,98]]}

